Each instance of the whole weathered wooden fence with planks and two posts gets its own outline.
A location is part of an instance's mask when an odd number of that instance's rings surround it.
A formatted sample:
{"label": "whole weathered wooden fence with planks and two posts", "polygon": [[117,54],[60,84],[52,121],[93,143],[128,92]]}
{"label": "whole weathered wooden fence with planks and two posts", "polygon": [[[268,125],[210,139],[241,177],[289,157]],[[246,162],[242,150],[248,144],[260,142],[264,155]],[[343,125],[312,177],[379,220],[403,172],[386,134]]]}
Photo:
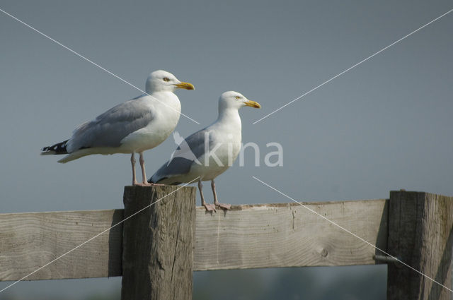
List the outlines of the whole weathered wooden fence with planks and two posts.
{"label": "whole weathered wooden fence with planks and two posts", "polygon": [[442,287],[297,203],[209,213],[195,192],[127,186],[124,210],[0,214],[0,281],[122,276],[122,299],[191,299],[193,271],[387,263],[387,299],[452,299],[452,197],[304,203]]}

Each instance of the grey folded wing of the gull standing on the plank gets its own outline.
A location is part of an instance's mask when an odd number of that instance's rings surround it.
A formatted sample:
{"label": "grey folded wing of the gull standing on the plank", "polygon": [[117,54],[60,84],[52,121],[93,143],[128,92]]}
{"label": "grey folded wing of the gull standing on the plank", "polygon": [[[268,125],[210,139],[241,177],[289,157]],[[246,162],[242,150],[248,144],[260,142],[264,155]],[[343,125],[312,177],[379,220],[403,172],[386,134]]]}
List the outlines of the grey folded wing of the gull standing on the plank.
{"label": "grey folded wing of the gull standing on the plank", "polygon": [[[209,138],[209,147],[212,148],[214,140],[212,135],[207,128],[204,128],[200,131],[193,133],[191,136],[186,138],[184,141],[187,143],[190,151],[193,153],[194,159],[188,159],[185,157],[180,157],[177,154],[178,150],[183,148],[184,142],[181,143],[176,149],[176,155],[168,162],[163,164],[149,179],[150,182],[157,183],[163,179],[171,178],[171,176],[178,176],[183,174],[188,174],[190,172],[190,167],[192,167],[195,162],[195,158],[198,160],[202,155],[205,154],[205,137]],[[203,163],[203,162],[200,162]],[[180,184],[179,182],[174,182],[172,184]]]}

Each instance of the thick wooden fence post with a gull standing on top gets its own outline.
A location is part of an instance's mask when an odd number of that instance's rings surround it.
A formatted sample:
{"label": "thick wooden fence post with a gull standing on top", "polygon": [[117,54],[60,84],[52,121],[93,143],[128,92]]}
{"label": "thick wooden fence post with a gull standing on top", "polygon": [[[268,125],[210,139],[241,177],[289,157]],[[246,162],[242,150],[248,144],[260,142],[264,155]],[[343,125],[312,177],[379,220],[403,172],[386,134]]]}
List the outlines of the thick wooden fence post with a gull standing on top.
{"label": "thick wooden fence post with a gull standing on top", "polygon": [[122,300],[192,299],[195,191],[125,187],[125,218],[156,203],[124,222]]}

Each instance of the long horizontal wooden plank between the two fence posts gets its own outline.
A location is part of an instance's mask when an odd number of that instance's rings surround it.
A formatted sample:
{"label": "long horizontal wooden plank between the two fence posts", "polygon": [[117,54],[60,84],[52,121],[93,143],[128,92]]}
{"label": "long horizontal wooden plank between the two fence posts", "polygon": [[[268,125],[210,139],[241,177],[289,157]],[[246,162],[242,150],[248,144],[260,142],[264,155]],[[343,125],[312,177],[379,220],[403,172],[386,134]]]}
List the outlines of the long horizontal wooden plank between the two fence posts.
{"label": "long horizontal wooden plank between the two fence posts", "polygon": [[[386,249],[386,200],[304,203]],[[374,264],[375,249],[297,203],[197,208],[194,270]]]}

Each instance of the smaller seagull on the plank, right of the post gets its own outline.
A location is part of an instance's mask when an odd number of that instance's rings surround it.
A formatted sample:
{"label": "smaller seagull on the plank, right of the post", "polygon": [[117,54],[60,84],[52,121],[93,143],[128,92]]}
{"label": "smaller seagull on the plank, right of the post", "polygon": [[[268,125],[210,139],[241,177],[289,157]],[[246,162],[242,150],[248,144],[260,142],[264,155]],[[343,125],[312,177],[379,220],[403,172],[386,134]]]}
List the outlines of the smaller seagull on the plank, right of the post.
{"label": "smaller seagull on the plank, right of the post", "polygon": [[[260,104],[248,100],[239,92],[224,92],[219,98],[219,117],[210,126],[193,133],[180,143],[175,155],[154,173],[149,182],[178,185],[198,179],[201,205],[207,211],[215,208],[229,210],[231,205],[219,203],[214,179],[226,171],[236,160],[241,149],[241,107],[260,108]],[[188,145],[188,147],[182,147]],[[185,148],[185,150],[183,149]],[[190,160],[191,152],[196,160]],[[214,205],[207,204],[202,191],[202,181],[211,181]]]}

